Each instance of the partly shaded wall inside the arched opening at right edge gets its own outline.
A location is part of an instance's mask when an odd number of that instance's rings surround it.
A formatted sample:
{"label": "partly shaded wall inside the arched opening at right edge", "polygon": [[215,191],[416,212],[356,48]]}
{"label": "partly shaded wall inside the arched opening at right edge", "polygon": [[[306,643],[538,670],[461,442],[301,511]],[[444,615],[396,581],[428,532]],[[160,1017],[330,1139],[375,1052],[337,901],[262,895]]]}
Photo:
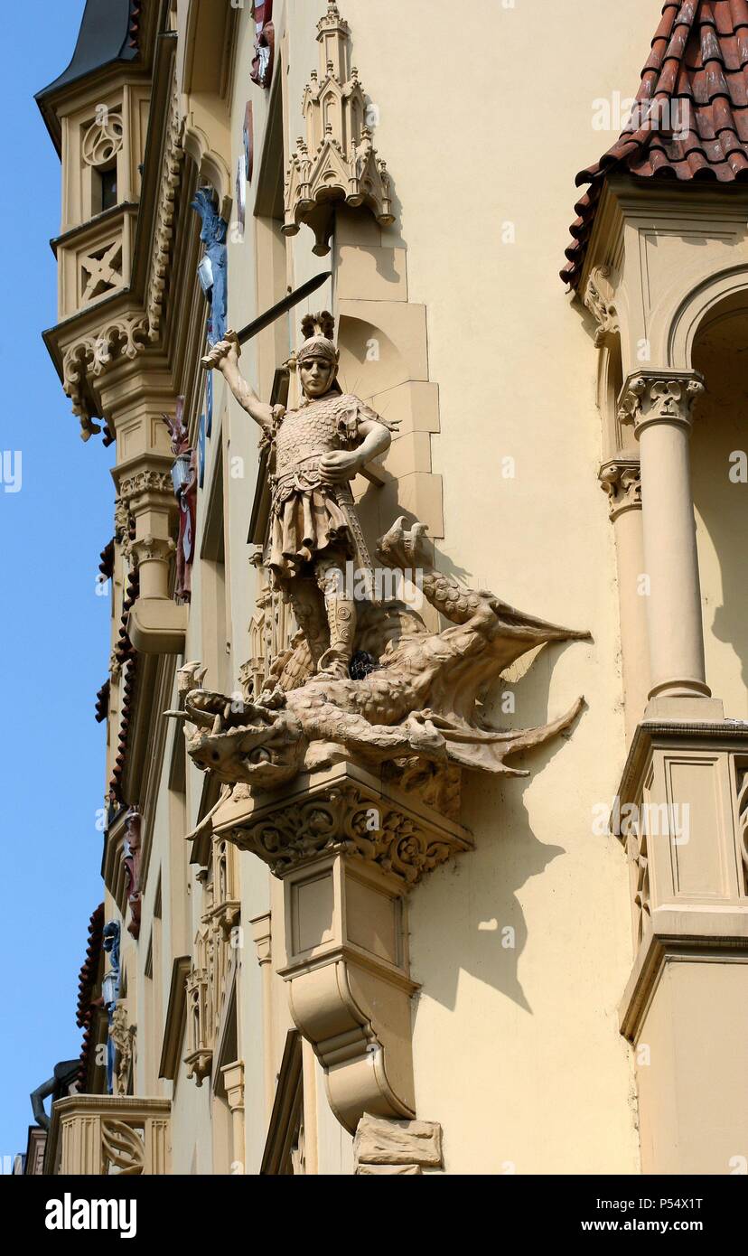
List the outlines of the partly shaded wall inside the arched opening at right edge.
{"label": "partly shaded wall inside the arched opening at right edge", "polygon": [[[700,329],[694,369],[707,381],[692,437],[707,679],[733,718],[748,718],[748,484],[730,479],[748,456],[748,294]],[[734,472],[733,472],[734,475]]]}

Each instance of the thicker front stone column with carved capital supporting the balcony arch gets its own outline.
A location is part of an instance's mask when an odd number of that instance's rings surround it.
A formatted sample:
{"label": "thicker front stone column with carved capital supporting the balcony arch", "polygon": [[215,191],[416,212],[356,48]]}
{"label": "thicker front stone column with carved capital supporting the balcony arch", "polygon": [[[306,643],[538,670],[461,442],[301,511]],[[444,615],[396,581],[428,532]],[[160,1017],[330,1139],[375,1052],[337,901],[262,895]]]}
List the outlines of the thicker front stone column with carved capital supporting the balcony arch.
{"label": "thicker front stone column with carved capital supporting the balcony arch", "polygon": [[[641,461],[649,697],[676,700],[680,708],[681,698],[710,697],[689,450],[693,403],[703,389],[695,372],[643,371],[629,376],[621,394],[620,420],[634,423]],[[690,710],[704,718],[700,703]]]}

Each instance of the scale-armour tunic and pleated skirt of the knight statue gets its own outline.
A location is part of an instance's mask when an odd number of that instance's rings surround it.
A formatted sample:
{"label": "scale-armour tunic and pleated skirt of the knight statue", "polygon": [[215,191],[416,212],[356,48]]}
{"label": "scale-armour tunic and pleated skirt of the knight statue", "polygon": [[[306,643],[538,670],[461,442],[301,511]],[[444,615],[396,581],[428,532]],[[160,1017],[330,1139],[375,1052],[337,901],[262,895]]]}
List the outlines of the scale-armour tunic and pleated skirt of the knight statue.
{"label": "scale-armour tunic and pleated skirt of the knight statue", "polygon": [[328,393],[274,420],[267,566],[275,582],[310,574],[310,564],[330,549],[343,560],[355,556],[355,541],[339,501],[350,491],[348,485],[324,485],[320,461],[334,450],[355,448],[364,418],[383,422],[358,397]]}

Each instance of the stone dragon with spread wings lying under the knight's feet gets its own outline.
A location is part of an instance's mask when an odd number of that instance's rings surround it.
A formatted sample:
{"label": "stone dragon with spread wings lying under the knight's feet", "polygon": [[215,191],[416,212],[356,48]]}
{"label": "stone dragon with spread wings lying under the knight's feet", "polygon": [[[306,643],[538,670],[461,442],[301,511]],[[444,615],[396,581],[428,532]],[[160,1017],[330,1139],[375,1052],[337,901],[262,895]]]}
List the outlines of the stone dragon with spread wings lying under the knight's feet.
{"label": "stone dragon with spread wings lying under the knight's feet", "polygon": [[525,615],[434,570],[424,534],[422,524],[405,530],[400,517],[377,556],[388,568],[417,570],[425,599],[449,627],[429,632],[402,600],[364,600],[351,666],[355,674],[359,662],[360,678],[315,676],[299,633],[262,691],[246,692],[242,701],[205,690],[205,672],[187,663],[178,674],[179,710],[167,713],[184,721],[197,767],[259,795],[287,786],[302,771],[355,760],[443,814],[456,813],[462,769],[528,775],[506,760],[569,727],[584,700],[552,723],[505,731],[487,725],[482,698],[528,651],[589,633]]}

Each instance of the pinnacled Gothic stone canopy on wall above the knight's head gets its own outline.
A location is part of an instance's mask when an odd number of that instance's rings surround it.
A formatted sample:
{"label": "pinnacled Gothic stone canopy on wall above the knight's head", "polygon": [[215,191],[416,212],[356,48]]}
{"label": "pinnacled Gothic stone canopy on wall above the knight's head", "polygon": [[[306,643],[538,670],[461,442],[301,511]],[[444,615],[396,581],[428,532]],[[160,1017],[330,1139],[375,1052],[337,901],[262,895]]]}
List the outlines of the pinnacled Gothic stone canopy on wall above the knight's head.
{"label": "pinnacled Gothic stone canopy on wall above the knight's head", "polygon": [[318,23],[320,70],[311,73],[301,109],[306,139],[299,138],[285,185],[285,235],[296,235],[306,222],[315,234],[313,251],[330,251],[334,202],[366,205],[379,226],[394,222],[390,182],[377,156],[368,126],[364,92],[350,65],[350,28],[336,4],[329,4]]}

